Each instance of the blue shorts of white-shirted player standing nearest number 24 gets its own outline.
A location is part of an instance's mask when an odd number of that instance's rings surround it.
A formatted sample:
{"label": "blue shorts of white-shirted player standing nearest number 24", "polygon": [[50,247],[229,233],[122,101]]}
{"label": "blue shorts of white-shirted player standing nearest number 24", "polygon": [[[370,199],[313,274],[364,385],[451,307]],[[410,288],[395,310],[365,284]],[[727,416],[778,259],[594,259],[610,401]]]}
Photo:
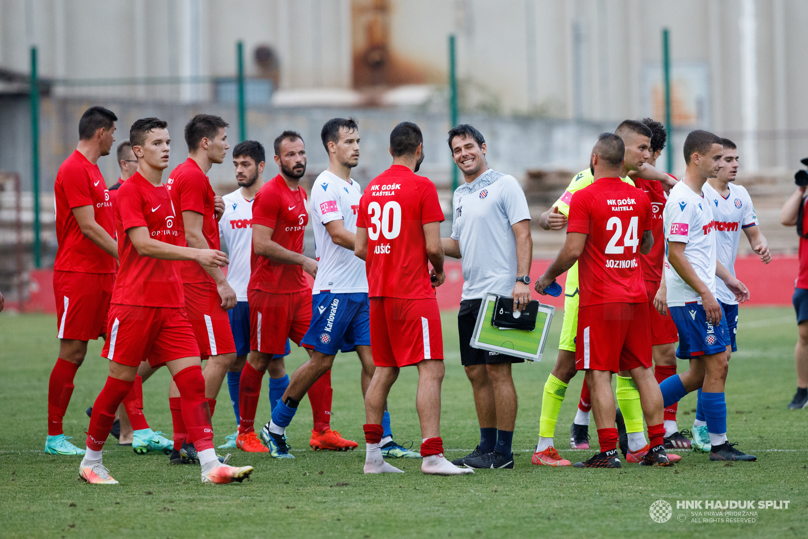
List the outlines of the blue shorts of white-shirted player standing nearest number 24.
{"label": "blue shorts of white-shirted player standing nearest number 24", "polygon": [[676,330],[679,331],[676,357],[680,360],[726,352],[726,345],[730,344],[726,313],[722,315],[721,323],[713,326],[707,322],[704,306],[698,303],[688,303],[684,307],[668,307],[667,310],[670,311]]}

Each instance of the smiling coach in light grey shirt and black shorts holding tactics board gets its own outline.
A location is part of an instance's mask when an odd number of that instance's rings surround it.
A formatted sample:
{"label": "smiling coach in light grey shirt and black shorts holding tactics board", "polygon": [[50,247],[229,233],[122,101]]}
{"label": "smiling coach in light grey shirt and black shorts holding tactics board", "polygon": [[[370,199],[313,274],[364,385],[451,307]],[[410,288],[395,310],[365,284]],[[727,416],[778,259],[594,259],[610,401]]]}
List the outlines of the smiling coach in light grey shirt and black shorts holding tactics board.
{"label": "smiling coach in light grey shirt and black shorts holding tactics board", "polygon": [[477,315],[486,292],[514,298],[514,309],[530,301],[528,201],[516,178],[486,165],[486,141],[469,124],[449,131],[449,148],[465,183],[452,200],[451,238],[441,238],[447,256],[462,259],[463,296],[457,314],[461,363],[474,392],[480,444],[452,461],[470,468],[513,468],[511,440],[516,423],[516,388],[511,363],[523,359],[473,348]]}

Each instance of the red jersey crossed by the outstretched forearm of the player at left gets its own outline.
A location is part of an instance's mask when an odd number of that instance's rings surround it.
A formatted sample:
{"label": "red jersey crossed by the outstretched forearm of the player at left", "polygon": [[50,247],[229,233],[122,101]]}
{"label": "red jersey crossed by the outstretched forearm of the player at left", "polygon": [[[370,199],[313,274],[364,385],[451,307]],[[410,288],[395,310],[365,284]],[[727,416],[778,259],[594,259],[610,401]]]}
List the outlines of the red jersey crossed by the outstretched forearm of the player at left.
{"label": "red jersey crossed by the outstretched forearm of the player at left", "polygon": [[[196,161],[187,158],[171,172],[167,183],[174,207],[179,213],[180,245],[188,245],[182,213],[191,211],[202,215],[202,235],[208,242],[208,248],[218,250],[221,247],[219,221],[216,220],[216,208],[213,204],[216,193],[210,186],[208,176],[204,175]],[[213,283],[208,272],[190,260],[179,263],[179,272],[183,276],[183,283]]]}

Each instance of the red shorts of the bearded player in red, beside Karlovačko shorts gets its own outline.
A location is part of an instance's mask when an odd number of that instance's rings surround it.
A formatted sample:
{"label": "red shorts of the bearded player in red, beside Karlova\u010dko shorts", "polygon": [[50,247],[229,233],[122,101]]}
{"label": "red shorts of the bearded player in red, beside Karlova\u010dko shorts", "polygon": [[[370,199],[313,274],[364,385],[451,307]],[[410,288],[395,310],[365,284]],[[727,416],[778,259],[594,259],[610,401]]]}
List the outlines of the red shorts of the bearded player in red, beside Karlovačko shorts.
{"label": "red shorts of the bearded player in red, beside Karlova\u010dko shorts", "polygon": [[284,354],[286,339],[300,346],[311,322],[311,290],[273,294],[247,290],[250,304],[250,350]]}

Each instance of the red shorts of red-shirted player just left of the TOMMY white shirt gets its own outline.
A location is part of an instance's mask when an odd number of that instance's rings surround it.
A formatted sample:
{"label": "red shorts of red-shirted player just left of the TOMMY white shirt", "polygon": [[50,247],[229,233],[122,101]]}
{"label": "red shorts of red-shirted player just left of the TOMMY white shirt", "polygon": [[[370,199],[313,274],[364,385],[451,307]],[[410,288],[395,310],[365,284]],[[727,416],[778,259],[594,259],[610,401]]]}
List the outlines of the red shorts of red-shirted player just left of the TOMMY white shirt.
{"label": "red shorts of red-shirted player just left of the TOMMY white shirt", "polygon": [[227,311],[221,308],[221,297],[216,284],[183,283],[185,314],[199,343],[203,360],[209,356],[236,352],[233,331]]}

